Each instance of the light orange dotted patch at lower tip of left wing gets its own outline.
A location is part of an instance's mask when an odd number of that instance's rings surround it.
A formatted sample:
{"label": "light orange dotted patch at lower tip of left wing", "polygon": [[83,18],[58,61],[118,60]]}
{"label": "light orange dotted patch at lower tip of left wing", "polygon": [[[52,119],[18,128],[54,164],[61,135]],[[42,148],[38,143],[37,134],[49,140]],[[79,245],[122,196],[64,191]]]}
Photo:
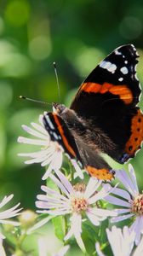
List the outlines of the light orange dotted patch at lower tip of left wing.
{"label": "light orange dotted patch at lower tip of left wing", "polygon": [[93,166],[86,166],[86,170],[92,177],[97,177],[98,179],[102,180],[112,180],[114,174],[109,172],[107,169],[96,169]]}

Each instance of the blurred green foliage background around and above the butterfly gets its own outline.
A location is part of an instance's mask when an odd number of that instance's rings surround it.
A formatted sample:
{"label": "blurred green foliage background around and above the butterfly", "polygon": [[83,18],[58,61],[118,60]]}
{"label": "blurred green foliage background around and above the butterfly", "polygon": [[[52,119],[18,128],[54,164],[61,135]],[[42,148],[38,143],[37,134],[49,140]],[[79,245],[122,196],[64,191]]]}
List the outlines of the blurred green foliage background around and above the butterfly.
{"label": "blurred green foliage background around and above the butterfly", "polygon": [[[0,13],[0,196],[14,193],[22,207],[34,209],[44,170],[23,164],[17,154],[28,149],[17,137],[26,136],[22,124],[37,121],[48,108],[19,96],[57,102],[56,61],[61,100],[69,105],[95,65],[130,43],[140,53],[137,70],[143,84],[143,2],[2,0]],[[132,160],[140,185],[142,153]]]}

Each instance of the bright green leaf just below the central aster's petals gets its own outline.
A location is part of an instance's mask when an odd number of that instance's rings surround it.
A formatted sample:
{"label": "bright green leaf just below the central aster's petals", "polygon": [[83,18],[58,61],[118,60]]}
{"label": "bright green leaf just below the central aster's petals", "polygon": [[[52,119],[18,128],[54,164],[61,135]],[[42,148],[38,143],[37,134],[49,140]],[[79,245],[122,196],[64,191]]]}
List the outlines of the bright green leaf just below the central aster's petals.
{"label": "bright green leaf just below the central aster's petals", "polygon": [[66,236],[66,223],[65,218],[63,216],[58,216],[52,219],[52,223],[54,225],[54,234],[61,241],[63,241]]}

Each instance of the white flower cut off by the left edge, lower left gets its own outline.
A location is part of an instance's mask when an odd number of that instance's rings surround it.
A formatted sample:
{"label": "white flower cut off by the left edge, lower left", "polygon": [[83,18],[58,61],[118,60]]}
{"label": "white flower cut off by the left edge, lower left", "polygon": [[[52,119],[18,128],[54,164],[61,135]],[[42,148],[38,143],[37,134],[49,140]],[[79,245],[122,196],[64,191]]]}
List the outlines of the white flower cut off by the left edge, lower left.
{"label": "white flower cut off by the left edge, lower left", "polygon": [[[20,223],[16,221],[9,220],[9,218],[13,218],[20,214],[20,210],[22,208],[18,208],[20,206],[20,203],[15,205],[14,207],[9,208],[8,210],[1,211],[1,208],[3,208],[14,195],[4,196],[3,201],[0,202],[0,224],[12,224],[14,226],[20,225]],[[5,238],[2,233],[0,233],[0,239]]]}

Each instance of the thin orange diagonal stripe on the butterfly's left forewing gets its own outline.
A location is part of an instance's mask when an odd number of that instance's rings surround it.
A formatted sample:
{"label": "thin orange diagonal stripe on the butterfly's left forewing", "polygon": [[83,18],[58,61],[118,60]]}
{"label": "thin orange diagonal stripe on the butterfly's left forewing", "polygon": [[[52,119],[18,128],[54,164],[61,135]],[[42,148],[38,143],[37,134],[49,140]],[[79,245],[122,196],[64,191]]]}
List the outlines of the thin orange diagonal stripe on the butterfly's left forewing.
{"label": "thin orange diagonal stripe on the butterfly's left forewing", "polygon": [[59,129],[59,131],[60,131],[60,136],[62,137],[63,143],[65,144],[67,150],[68,150],[74,157],[76,157],[75,152],[73,151],[72,147],[70,146],[70,144],[68,143],[68,141],[67,141],[67,139],[66,139],[66,137],[65,137],[65,135],[64,135],[64,130],[63,130],[62,126],[60,125],[59,119],[57,118],[56,114],[53,114],[53,116],[54,116],[54,121],[55,121],[55,123],[57,124],[58,129]]}

